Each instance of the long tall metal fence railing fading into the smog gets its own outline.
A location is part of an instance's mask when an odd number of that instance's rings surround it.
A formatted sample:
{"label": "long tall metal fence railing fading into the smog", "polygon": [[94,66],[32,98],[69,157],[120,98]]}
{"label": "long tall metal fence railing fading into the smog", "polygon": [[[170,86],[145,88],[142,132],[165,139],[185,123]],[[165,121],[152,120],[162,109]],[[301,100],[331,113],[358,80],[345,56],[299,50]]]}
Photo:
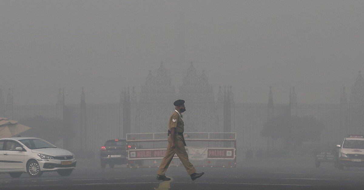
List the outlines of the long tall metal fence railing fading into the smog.
{"label": "long tall metal fence railing fading into the smog", "polygon": [[[148,109],[144,109],[144,108]],[[230,109],[231,115],[224,116],[224,110]],[[130,122],[131,133],[154,133],[153,140],[167,138],[167,120],[173,112],[169,104],[131,104],[130,118],[123,118],[123,104],[87,104],[81,109],[80,105],[12,105],[1,106],[2,117],[12,120],[24,120],[35,116],[58,118],[65,121],[74,130],[74,137],[63,140],[67,145],[77,146],[78,149],[98,150],[106,140],[123,138],[123,121]],[[310,116],[322,122],[325,129],[320,141],[341,141],[347,134],[364,133],[364,104],[253,104],[232,103],[225,108],[218,103],[191,103],[183,114],[185,131],[189,138],[194,133],[223,132],[223,126],[229,120],[231,132],[237,134],[237,148],[244,150],[273,150],[282,149],[280,140],[261,137],[264,124],[277,116]],[[83,122],[86,121],[86,122]],[[159,133],[158,133],[159,132]],[[162,133],[164,132],[164,133]],[[204,133],[206,139],[214,133]],[[127,137],[128,138],[128,137]],[[223,137],[229,138],[229,137]]]}

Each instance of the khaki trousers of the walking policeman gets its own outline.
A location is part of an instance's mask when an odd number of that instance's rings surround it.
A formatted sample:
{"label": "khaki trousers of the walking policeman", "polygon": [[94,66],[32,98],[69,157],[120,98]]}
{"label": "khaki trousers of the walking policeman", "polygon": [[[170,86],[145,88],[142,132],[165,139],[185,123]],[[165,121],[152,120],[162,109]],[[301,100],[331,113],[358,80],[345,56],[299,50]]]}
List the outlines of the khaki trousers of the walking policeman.
{"label": "khaki trousers of the walking policeman", "polygon": [[173,159],[174,154],[177,154],[178,158],[181,160],[183,166],[185,166],[185,169],[189,175],[195,173],[196,169],[188,159],[188,154],[185,149],[185,142],[183,140],[183,137],[178,133],[174,135],[174,145],[175,148],[173,149],[171,136],[168,136],[167,151],[165,156],[163,157],[161,166],[159,166],[157,174],[165,175],[168,166]]}

